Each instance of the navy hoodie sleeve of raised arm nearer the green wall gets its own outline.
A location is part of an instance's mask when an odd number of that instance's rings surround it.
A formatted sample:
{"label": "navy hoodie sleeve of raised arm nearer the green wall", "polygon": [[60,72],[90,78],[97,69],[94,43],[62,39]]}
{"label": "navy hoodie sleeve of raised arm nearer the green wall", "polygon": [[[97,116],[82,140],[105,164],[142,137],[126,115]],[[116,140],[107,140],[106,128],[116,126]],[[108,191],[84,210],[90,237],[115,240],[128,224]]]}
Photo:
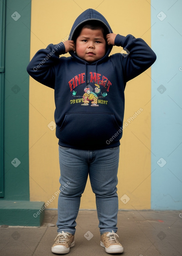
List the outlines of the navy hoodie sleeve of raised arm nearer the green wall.
{"label": "navy hoodie sleeve of raised arm nearer the green wall", "polygon": [[39,50],[27,66],[27,72],[36,81],[54,89],[55,68],[59,55],[65,54],[64,44],[49,44],[46,49]]}

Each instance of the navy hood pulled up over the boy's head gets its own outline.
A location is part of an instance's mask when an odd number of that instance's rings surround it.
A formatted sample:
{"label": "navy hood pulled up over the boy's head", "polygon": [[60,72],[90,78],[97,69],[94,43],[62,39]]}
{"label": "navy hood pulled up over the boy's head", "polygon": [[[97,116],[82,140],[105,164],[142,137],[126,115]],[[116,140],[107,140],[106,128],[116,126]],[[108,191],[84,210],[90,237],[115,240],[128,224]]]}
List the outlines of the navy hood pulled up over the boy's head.
{"label": "navy hood pulled up over the boy's head", "polygon": [[[75,34],[76,30],[79,28],[80,25],[82,25],[84,22],[90,21],[90,20],[98,21],[98,23],[101,22],[104,26],[106,26],[106,30],[108,31],[107,34],[112,33],[111,27],[109,26],[109,24],[108,24],[107,20],[105,19],[105,17],[102,14],[100,14],[100,12],[98,12],[98,11],[96,11],[94,9],[87,9],[84,12],[82,12],[77,17],[77,19],[75,20],[75,22],[74,22],[74,24],[73,24],[73,26],[71,28],[71,32],[70,32],[70,35],[69,35],[69,40],[73,40],[74,34]],[[105,57],[107,57],[109,55],[109,53],[112,50],[112,47],[113,47],[113,45],[109,45],[108,46],[108,48],[107,48],[108,50],[107,50],[105,56],[102,57],[102,59],[104,59]],[[69,51],[69,54],[72,57],[76,57],[77,59],[81,60],[79,57],[77,57],[75,52]]]}

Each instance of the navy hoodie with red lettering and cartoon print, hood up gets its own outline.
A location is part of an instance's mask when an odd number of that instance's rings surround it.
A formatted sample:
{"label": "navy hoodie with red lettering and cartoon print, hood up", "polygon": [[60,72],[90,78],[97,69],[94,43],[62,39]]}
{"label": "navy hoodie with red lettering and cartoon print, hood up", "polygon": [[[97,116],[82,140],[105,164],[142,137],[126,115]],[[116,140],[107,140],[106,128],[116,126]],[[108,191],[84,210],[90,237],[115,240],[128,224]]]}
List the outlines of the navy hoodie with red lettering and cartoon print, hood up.
{"label": "navy hoodie with red lettering and cartoon print, hood up", "polygon": [[[102,22],[112,33],[105,17],[88,9],[75,20],[69,40],[73,40],[77,27],[89,20]],[[39,50],[28,65],[28,74],[54,89],[60,146],[96,150],[120,145],[126,82],[148,69],[156,55],[143,39],[132,35],[117,34],[114,44],[122,46],[128,54],[109,56],[110,45],[102,59],[90,64],[73,51],[69,52],[70,57],[60,57],[65,54],[61,42]]]}

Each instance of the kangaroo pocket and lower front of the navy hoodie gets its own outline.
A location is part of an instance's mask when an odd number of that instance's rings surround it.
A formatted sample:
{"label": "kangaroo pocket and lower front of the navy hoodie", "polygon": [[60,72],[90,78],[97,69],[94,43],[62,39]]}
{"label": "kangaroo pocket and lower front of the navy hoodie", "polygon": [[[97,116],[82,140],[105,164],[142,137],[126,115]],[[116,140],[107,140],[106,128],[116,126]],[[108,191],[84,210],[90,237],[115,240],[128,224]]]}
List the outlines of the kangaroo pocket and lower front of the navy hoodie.
{"label": "kangaroo pocket and lower front of the navy hoodie", "polygon": [[59,139],[73,147],[96,148],[107,146],[122,137],[122,129],[111,113],[67,113],[57,127]]}

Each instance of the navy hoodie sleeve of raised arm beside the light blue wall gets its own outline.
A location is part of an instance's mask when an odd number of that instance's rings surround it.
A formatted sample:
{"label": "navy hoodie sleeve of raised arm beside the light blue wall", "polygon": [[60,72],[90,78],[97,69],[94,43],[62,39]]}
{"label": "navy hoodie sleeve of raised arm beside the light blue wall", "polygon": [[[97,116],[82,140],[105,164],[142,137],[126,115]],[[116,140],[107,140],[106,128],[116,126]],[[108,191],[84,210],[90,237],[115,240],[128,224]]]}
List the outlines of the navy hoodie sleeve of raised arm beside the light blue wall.
{"label": "navy hoodie sleeve of raised arm beside the light blue wall", "polygon": [[156,60],[154,51],[141,38],[132,35],[117,34],[114,44],[122,46],[128,53],[121,54],[121,61],[125,74],[125,81],[129,81],[148,69]]}

